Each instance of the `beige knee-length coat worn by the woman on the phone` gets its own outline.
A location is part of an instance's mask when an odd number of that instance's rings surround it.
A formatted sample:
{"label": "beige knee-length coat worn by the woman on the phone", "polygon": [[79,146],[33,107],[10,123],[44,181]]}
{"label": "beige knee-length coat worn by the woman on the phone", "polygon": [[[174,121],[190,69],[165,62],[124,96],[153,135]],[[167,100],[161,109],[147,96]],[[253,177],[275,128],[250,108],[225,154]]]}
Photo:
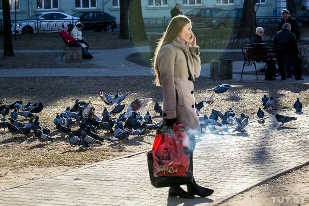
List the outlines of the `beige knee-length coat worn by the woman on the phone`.
{"label": "beige knee-length coat worn by the woman on the phone", "polygon": [[200,74],[199,47],[189,47],[178,39],[161,47],[157,55],[163,94],[162,124],[177,118],[188,133],[200,132],[195,112],[193,81]]}

